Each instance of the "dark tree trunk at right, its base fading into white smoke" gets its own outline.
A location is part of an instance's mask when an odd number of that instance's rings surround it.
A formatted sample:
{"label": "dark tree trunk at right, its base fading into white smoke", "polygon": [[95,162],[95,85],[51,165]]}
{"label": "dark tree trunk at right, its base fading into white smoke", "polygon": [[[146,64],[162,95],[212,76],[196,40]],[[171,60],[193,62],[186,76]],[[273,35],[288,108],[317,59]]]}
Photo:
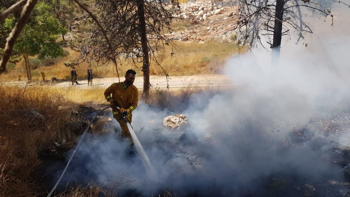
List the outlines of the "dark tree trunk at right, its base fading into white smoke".
{"label": "dark tree trunk at right, its base fading into white smoke", "polygon": [[284,0],[276,0],[275,25],[273,29],[273,43],[271,46],[272,48],[271,64],[273,66],[278,65],[278,60],[280,58],[284,4],[285,4]]}

